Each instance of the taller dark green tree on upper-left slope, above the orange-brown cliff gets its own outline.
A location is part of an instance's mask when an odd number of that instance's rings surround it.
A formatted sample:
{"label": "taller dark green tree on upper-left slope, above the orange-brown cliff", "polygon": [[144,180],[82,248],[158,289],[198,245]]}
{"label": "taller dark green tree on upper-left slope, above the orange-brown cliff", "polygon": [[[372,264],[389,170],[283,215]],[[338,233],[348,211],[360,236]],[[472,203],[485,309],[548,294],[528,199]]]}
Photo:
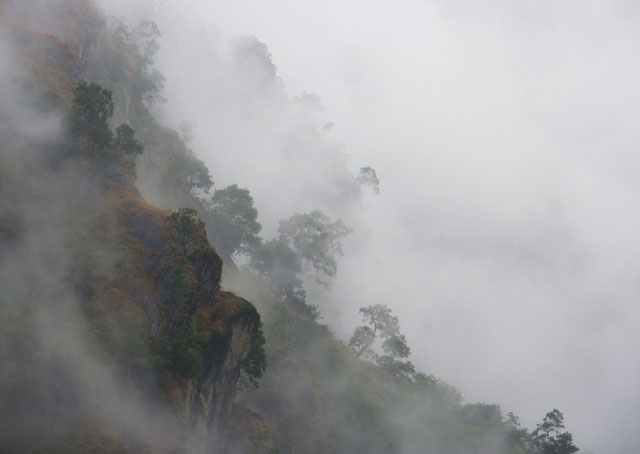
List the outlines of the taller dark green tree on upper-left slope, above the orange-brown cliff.
{"label": "taller dark green tree on upper-left slope, above the orange-brown cliff", "polygon": [[111,91],[98,84],[82,81],[73,91],[72,130],[86,137],[97,148],[108,148],[113,133],[107,120],[113,114]]}

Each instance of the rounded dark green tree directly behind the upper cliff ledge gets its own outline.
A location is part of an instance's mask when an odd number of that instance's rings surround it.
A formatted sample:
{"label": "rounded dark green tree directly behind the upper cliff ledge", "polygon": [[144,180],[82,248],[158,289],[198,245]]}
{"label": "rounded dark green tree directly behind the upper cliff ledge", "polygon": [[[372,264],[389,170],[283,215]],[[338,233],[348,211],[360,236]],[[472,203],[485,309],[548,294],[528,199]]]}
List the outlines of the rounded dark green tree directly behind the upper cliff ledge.
{"label": "rounded dark green tree directly behind the upper cliff ledge", "polygon": [[225,256],[250,254],[260,245],[262,226],[248,189],[233,184],[216,190],[206,216],[210,238]]}

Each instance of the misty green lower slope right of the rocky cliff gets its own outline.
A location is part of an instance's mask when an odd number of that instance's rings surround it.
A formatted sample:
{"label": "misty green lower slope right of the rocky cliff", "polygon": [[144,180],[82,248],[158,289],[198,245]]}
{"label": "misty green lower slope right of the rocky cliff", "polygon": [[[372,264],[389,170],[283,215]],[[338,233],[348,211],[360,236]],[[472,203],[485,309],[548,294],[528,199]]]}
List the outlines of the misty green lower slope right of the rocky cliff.
{"label": "misty green lower slope right of the rocky cliff", "polygon": [[[256,303],[269,364],[259,387],[240,394],[231,452],[254,452],[250,447],[264,443],[256,414],[280,453],[535,452],[498,406],[464,404],[458,390],[433,376],[394,377],[354,358],[326,326],[251,275],[225,270],[224,283]],[[254,428],[253,438],[246,427]]]}

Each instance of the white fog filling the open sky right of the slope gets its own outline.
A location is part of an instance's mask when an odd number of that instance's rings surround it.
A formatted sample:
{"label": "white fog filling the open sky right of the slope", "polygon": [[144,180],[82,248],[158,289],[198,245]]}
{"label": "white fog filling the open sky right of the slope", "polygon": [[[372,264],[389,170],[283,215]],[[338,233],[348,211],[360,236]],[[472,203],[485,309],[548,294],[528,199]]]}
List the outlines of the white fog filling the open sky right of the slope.
{"label": "white fog filling the open sky right of the slope", "polygon": [[322,98],[349,166],[378,171],[325,309],[343,338],[386,303],[414,363],[468,401],[529,427],[556,407],[582,447],[640,451],[636,2],[164,3],[159,109],[198,124],[217,186],[249,187],[268,234],[310,209],[276,150],[292,114],[250,93],[251,119],[187,102],[240,99],[203,77],[232,38],[266,43],[289,97]]}

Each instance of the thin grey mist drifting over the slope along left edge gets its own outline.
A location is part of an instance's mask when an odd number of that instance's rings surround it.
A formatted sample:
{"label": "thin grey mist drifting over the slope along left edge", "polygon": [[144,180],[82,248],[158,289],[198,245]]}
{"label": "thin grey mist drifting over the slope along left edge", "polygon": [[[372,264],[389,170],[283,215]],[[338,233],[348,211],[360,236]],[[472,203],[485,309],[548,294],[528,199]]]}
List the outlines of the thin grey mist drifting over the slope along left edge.
{"label": "thin grey mist drifting over the slope along left edge", "polygon": [[[42,13],[21,19],[46,27]],[[0,450],[39,449],[98,421],[124,439],[166,446],[171,413],[130,398],[131,383],[97,348],[73,291],[78,255],[97,273],[122,258],[100,242],[114,220],[100,218],[97,238],[87,233],[96,230],[91,214],[105,208],[99,185],[88,166],[61,157],[65,117],[25,83],[6,26],[0,21]]]}

